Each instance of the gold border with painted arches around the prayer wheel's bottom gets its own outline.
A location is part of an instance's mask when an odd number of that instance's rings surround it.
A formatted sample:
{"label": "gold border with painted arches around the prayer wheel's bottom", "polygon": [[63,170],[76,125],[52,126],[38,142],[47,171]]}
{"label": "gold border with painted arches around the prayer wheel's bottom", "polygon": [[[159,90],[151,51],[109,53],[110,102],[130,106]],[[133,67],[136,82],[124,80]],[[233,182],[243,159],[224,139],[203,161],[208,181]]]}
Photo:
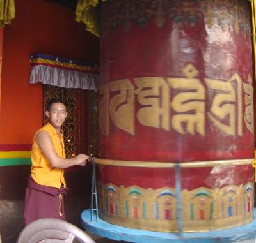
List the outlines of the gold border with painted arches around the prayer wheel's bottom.
{"label": "gold border with painted arches around the prayer wheel's bottom", "polygon": [[[239,226],[253,220],[253,184],[181,191],[182,230],[204,232]],[[177,232],[175,188],[98,183],[99,216],[109,223],[158,232]],[[157,205],[157,210],[156,210]],[[167,217],[166,217],[167,216]]]}

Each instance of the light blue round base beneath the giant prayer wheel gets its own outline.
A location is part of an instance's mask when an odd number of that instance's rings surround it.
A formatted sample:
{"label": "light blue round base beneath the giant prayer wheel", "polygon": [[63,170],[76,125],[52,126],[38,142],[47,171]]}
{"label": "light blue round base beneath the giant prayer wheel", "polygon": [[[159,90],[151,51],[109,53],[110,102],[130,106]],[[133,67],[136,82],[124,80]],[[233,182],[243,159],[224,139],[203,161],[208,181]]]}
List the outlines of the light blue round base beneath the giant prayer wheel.
{"label": "light blue round base beneath the giant prayer wheel", "polygon": [[136,230],[125,228],[98,218],[93,212],[91,219],[91,209],[86,209],[81,214],[81,224],[89,232],[113,240],[124,240],[138,243],[166,243],[166,242],[188,242],[188,243],[227,243],[244,242],[254,243],[256,237],[256,210],[254,209],[254,219],[251,223],[243,226],[232,227],[224,230],[212,230],[209,232],[193,233],[167,233],[152,232],[147,230]]}

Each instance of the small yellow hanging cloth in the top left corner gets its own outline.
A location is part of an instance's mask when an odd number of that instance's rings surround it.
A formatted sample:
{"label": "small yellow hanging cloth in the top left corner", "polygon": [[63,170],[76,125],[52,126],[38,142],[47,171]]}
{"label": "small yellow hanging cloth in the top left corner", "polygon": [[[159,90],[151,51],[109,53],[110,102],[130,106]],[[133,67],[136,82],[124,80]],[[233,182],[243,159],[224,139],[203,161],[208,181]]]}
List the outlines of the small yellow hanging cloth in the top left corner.
{"label": "small yellow hanging cloth in the top left corner", "polygon": [[5,24],[11,24],[11,20],[14,17],[14,0],[0,0],[0,27],[4,27]]}

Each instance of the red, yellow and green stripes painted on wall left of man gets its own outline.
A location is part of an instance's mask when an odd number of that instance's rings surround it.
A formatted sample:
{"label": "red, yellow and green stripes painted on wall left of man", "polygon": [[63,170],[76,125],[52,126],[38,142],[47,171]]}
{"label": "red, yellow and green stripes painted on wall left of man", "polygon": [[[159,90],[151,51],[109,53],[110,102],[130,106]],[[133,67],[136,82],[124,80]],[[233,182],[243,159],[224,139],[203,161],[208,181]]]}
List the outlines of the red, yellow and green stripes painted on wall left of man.
{"label": "red, yellow and green stripes painted on wall left of man", "polygon": [[0,144],[0,166],[31,165],[31,144]]}

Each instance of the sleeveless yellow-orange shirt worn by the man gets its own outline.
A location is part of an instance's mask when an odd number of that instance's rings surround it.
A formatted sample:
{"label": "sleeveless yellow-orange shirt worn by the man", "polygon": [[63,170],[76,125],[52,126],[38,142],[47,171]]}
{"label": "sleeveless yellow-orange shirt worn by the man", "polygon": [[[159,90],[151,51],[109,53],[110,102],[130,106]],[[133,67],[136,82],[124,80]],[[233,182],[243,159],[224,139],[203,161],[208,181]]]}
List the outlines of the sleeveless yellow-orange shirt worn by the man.
{"label": "sleeveless yellow-orange shirt worn by the man", "polygon": [[47,133],[51,136],[53,147],[58,156],[60,156],[61,158],[66,158],[63,136],[61,135],[60,139],[58,133],[56,132],[56,129],[54,129],[54,127],[50,123],[47,123],[36,132],[33,138],[31,151],[31,177],[37,184],[43,186],[52,186],[54,188],[60,189],[61,185],[63,185],[64,187],[66,186],[64,179],[64,170],[52,167],[47,158],[45,158],[38,145],[36,144],[35,137],[40,131],[47,131]]}

